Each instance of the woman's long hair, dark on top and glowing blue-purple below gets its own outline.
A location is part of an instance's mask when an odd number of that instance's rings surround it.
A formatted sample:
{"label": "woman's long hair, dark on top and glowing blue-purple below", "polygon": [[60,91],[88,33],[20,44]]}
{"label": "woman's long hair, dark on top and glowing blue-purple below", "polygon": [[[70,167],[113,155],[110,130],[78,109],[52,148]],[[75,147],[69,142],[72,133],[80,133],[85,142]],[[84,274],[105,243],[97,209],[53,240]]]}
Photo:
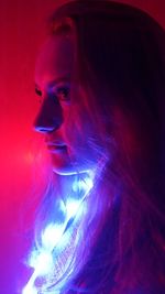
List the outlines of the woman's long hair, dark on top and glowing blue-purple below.
{"label": "woman's long hair, dark on top and glowing blue-purple below", "polygon": [[[86,144],[94,149],[98,166],[86,178],[78,171],[61,177],[63,192],[53,181],[44,196],[35,251],[42,251],[48,224],[65,222],[62,199],[66,203],[68,186],[81,208],[61,236],[64,248],[53,243],[51,271],[35,283],[38,293],[163,293],[164,30],[130,6],[88,0],[62,6],[50,24],[51,34],[74,37],[72,97],[78,102],[73,104],[67,130],[72,153],[81,151],[74,129],[86,140],[86,113],[97,133]],[[75,183],[86,188],[77,192]]]}

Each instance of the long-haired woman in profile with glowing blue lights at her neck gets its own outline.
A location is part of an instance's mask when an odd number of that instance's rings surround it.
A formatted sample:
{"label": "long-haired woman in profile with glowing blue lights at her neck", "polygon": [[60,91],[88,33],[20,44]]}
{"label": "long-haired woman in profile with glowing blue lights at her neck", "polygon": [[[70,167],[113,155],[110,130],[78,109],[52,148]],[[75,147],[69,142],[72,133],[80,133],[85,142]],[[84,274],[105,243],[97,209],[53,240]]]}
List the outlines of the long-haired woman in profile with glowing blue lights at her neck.
{"label": "long-haired woman in profile with glowing blue lights at her neck", "polygon": [[107,1],[58,8],[36,61],[53,178],[23,294],[165,293],[165,33]]}

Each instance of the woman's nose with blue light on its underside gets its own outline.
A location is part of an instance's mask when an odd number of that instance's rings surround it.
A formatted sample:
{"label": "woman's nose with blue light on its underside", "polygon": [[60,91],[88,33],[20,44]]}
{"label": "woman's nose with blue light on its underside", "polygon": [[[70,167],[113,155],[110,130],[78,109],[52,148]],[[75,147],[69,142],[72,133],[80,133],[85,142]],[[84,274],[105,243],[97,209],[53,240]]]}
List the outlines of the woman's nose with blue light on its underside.
{"label": "woman's nose with blue light on its underside", "polygon": [[52,132],[63,123],[62,106],[53,97],[46,97],[34,120],[34,129],[37,132]]}

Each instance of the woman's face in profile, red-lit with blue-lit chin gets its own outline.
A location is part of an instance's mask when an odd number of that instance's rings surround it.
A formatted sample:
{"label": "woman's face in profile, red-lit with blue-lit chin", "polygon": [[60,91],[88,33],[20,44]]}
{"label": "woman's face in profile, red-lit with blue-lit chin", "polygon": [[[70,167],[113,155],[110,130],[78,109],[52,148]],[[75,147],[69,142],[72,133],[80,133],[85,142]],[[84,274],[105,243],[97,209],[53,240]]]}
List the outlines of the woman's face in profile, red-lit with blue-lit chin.
{"label": "woman's face in profile, red-lit with blue-lit chin", "polygon": [[[82,173],[94,168],[94,165],[85,166],[82,164],[82,157],[88,157],[90,154],[87,145],[81,146],[84,153],[79,154],[79,159],[76,159],[75,162],[70,159],[68,145],[72,145],[69,142],[72,135],[70,138],[65,135],[67,121],[72,116],[73,46],[69,37],[61,35],[48,37],[41,48],[35,67],[35,91],[41,96],[42,104],[34,127],[36,131],[45,134],[53,171],[61,175]],[[76,97],[76,99],[78,98]],[[87,126],[87,129],[91,129],[90,126]],[[86,137],[88,141],[88,133]],[[78,133],[76,139],[77,146],[82,144]]]}

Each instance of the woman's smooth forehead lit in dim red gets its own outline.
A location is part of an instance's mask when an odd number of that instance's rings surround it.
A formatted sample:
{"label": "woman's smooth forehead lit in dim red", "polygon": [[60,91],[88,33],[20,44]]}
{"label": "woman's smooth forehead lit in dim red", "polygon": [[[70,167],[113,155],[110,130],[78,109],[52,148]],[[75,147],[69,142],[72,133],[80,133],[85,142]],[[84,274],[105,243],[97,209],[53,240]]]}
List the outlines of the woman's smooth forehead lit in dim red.
{"label": "woman's smooth forehead lit in dim red", "polygon": [[35,83],[40,87],[64,76],[70,76],[74,48],[70,37],[53,35],[42,45],[35,65]]}

